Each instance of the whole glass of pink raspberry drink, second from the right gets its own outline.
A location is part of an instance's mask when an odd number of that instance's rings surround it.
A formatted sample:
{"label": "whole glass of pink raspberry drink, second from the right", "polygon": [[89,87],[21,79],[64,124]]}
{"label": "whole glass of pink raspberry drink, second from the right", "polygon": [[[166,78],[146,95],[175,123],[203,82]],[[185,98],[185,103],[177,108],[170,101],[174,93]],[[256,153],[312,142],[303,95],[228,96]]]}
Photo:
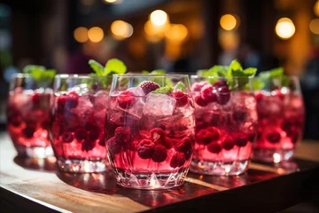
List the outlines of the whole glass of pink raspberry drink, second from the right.
{"label": "whole glass of pink raspberry drink, second from the right", "polygon": [[257,133],[252,78],[191,76],[195,100],[195,151],[191,171],[208,175],[245,172]]}

